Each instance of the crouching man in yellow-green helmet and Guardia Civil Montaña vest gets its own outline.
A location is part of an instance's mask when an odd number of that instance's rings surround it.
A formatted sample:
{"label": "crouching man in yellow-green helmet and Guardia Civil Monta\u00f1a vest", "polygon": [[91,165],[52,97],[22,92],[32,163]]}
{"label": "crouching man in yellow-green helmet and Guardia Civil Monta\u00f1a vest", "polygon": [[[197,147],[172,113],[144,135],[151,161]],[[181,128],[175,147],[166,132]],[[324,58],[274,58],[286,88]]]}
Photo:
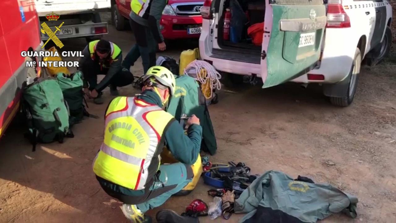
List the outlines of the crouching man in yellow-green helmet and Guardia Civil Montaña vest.
{"label": "crouching man in yellow-green helmet and Guardia Civil Monta\u00f1a vest", "polygon": [[[103,190],[120,200],[132,222],[151,222],[144,213],[183,189],[194,177],[191,165],[199,155],[202,127],[192,115],[187,135],[164,111],[175,92],[175,77],[165,67],[151,67],[141,94],[114,98],[106,111],[104,142],[93,161]],[[160,165],[166,144],[179,163]]]}

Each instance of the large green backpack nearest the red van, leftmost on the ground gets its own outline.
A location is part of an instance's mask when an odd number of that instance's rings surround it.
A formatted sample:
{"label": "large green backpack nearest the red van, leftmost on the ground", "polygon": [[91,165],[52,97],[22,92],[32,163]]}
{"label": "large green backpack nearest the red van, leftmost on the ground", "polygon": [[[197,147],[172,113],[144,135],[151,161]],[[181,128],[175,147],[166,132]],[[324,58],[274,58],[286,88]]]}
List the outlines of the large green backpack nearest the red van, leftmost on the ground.
{"label": "large green backpack nearest the red van, leftmost on the ground", "polygon": [[73,137],[69,129],[69,108],[55,79],[36,79],[23,91],[23,111],[27,117],[27,138],[36,150],[37,142],[63,142]]}

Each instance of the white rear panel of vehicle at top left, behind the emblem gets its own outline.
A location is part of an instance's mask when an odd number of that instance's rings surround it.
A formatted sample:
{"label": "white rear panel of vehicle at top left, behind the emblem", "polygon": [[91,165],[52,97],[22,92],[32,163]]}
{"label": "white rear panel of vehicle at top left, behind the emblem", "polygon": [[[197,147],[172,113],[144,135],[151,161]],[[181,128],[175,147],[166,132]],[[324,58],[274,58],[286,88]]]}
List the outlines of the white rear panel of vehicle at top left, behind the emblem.
{"label": "white rear panel of vehicle at top left, behind the emblem", "polygon": [[38,16],[59,15],[111,8],[111,0],[35,0]]}

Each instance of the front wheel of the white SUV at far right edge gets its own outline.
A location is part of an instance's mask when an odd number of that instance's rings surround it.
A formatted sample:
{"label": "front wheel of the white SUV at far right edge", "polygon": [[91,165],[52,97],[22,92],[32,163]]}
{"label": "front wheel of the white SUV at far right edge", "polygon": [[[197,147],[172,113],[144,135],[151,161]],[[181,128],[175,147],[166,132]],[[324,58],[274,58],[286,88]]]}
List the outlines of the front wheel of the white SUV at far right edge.
{"label": "front wheel of the white SUV at far right edge", "polygon": [[371,50],[370,57],[366,60],[367,65],[374,66],[381,63],[389,55],[391,44],[392,31],[389,27],[386,27],[384,39],[380,44],[375,46],[373,50]]}

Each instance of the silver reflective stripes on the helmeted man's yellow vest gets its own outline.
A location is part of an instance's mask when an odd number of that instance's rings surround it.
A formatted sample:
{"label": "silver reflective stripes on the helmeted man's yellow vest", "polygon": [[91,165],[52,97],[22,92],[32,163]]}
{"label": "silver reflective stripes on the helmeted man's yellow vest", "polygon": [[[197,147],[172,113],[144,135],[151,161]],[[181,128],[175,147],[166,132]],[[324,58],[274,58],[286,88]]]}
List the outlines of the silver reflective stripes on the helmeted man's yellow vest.
{"label": "silver reflective stripes on the helmeted man's yellow vest", "polygon": [[[124,97],[121,100],[125,100]],[[108,127],[107,125],[109,124],[109,122],[111,120],[120,118],[120,117],[129,116],[129,117],[133,117],[137,121],[137,123],[139,123],[141,125],[143,130],[147,133],[147,135],[150,139],[150,143],[149,143],[149,148],[147,150],[147,155],[146,155],[145,161],[143,163],[143,170],[146,170],[146,171],[142,171],[141,176],[140,176],[139,185],[137,186],[137,190],[141,190],[141,189],[145,188],[144,185],[146,184],[147,177],[148,177],[148,171],[147,171],[148,166],[150,165],[151,160],[153,159],[154,153],[156,152],[156,149],[157,149],[157,146],[159,143],[157,134],[155,133],[154,129],[147,123],[147,121],[143,119],[143,114],[145,114],[147,112],[152,112],[155,110],[162,110],[162,108],[160,108],[159,106],[156,106],[156,105],[146,106],[146,107],[137,106],[137,105],[135,105],[133,97],[127,97],[127,102],[128,102],[128,109],[126,111],[110,113],[106,117],[105,128]],[[107,131],[107,129],[105,129],[105,131]],[[107,150],[107,151],[104,151],[104,150]],[[140,158],[133,157],[133,156],[125,154],[119,150],[111,148],[111,147],[107,146],[105,143],[102,143],[101,151],[106,153],[109,156],[112,156],[112,157],[118,159],[118,160],[122,160],[127,163],[131,163],[133,165],[140,166],[141,162],[143,161]],[[116,151],[116,152],[114,152],[114,151]],[[127,158],[126,156],[122,156],[122,155],[126,155],[129,157]],[[160,159],[159,156],[156,158]],[[96,160],[96,158],[95,158],[95,160]],[[95,160],[93,161],[94,163],[95,163]],[[140,160],[140,161],[138,161],[138,160]],[[133,162],[135,162],[135,163],[133,163]]]}

